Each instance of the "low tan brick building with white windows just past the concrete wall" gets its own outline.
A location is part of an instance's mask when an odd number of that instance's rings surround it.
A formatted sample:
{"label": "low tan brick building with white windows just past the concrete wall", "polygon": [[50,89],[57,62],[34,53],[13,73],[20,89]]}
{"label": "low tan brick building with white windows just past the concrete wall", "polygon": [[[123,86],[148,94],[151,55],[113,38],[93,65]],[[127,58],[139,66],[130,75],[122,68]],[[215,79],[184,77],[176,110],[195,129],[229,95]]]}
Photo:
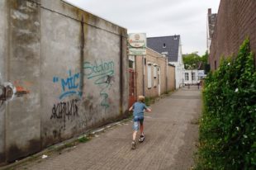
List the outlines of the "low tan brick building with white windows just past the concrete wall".
{"label": "low tan brick building with white windows just past the concrete wall", "polygon": [[129,56],[130,104],[139,95],[158,97],[175,88],[175,67],[162,54],[149,48],[146,51],[145,56]]}

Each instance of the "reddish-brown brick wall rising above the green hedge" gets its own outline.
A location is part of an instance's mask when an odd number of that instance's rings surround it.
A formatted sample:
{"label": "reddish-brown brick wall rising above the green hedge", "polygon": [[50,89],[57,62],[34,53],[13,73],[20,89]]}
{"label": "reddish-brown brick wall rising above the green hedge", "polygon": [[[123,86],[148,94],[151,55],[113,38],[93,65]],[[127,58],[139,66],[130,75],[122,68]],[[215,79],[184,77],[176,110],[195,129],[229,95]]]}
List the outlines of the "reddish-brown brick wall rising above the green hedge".
{"label": "reddish-brown brick wall rising above the green hedge", "polygon": [[247,36],[256,54],[256,0],[221,0],[211,40],[211,70],[215,69],[215,61],[219,66],[220,56],[237,54]]}

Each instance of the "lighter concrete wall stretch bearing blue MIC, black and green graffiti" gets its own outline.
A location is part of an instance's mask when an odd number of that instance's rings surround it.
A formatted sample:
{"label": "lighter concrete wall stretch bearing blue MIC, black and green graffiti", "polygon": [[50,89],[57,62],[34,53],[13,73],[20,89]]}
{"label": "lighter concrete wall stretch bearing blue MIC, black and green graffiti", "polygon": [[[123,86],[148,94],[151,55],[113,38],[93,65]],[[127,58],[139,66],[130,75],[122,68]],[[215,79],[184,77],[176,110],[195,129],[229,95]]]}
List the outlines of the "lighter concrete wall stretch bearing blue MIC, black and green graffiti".
{"label": "lighter concrete wall stretch bearing blue MIC, black and green graffiti", "polygon": [[[120,116],[120,95],[116,94],[121,90],[123,30],[73,7],[59,8],[62,5],[42,1],[42,6],[56,11],[41,11],[43,145]],[[69,111],[62,111],[65,105]]]}

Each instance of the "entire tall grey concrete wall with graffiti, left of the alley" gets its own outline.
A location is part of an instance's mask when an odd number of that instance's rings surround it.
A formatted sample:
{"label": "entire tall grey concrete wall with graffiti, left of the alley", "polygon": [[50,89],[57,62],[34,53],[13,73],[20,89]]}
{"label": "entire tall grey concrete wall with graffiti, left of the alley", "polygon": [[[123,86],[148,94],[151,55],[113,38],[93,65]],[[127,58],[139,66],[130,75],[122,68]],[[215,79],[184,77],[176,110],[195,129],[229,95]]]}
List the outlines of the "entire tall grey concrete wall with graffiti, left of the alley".
{"label": "entire tall grey concrete wall with graffiti, left of the alley", "polygon": [[0,161],[125,115],[126,29],[61,0],[0,2]]}

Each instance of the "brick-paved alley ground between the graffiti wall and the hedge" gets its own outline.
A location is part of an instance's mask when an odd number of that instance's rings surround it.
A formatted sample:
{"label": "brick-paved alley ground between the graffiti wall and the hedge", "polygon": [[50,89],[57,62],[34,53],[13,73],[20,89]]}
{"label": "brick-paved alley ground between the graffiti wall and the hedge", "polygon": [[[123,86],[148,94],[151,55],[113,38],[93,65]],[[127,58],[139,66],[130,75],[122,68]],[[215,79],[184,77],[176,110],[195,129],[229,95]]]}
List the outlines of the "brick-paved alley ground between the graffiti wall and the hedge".
{"label": "brick-paved alley ground between the graffiti wall and the hedge", "polygon": [[130,149],[132,122],[122,123],[61,154],[15,169],[180,170],[190,169],[198,138],[201,91],[183,87],[145,113],[145,142]]}

